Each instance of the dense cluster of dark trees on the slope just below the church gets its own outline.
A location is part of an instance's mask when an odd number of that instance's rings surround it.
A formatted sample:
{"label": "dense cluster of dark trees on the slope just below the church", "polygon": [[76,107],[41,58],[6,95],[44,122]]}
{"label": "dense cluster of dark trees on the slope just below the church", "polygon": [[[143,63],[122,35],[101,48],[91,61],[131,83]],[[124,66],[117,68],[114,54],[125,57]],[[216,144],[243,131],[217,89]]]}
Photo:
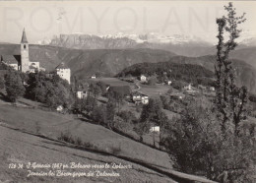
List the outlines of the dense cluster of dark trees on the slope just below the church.
{"label": "dense cluster of dark trees on the slope just below the church", "polygon": [[71,109],[74,103],[74,93],[67,81],[57,74],[45,72],[21,73],[12,68],[7,68],[1,88],[7,92],[7,97],[12,101],[27,97],[34,101],[45,103],[50,108],[63,105]]}

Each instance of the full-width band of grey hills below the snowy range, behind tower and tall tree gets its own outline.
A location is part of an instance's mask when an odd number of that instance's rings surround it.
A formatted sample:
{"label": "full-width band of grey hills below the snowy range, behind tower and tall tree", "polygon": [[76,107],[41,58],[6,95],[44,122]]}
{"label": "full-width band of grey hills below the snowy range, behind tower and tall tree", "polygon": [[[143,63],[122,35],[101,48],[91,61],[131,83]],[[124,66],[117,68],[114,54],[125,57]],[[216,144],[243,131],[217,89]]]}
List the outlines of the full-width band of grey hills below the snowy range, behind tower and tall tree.
{"label": "full-width band of grey hills below the snowy range, behind tower and tall tree", "polygon": [[[256,93],[256,69],[249,65],[253,64],[255,52],[249,48],[238,49],[241,51],[231,54],[231,58],[241,57],[242,60],[234,59],[237,71],[237,84],[245,85]],[[246,53],[243,53],[243,52]],[[0,44],[0,54],[20,54],[19,44]],[[244,56],[243,56],[244,55]],[[248,58],[248,60],[246,60]],[[134,64],[149,62],[172,62],[183,64],[201,65],[208,70],[214,71],[215,56],[186,57],[178,56],[173,52],[160,49],[136,48],[136,49],[70,49],[49,45],[30,45],[30,59],[39,61],[40,66],[53,70],[60,62],[64,62],[71,68],[72,75],[85,78],[99,73],[102,76],[114,76],[126,67]]]}

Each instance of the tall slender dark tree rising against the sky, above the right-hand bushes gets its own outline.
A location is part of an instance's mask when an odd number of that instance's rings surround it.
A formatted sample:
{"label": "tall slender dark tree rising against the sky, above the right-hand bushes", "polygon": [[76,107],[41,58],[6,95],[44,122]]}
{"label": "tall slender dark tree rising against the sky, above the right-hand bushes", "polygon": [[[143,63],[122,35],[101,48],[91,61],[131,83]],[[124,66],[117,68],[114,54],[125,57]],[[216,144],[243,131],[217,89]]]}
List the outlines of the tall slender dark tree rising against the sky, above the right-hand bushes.
{"label": "tall slender dark tree rising against the sky, above the right-hand bushes", "polygon": [[[237,46],[235,42],[241,30],[238,25],[245,22],[242,16],[236,16],[232,3],[224,6],[227,16],[217,19],[218,24],[218,45],[217,64],[215,72],[217,77],[217,107],[222,120],[222,130],[225,132],[228,126],[234,125],[235,135],[238,135],[238,127],[241,120],[246,117],[245,104],[247,102],[247,89],[235,86],[235,72],[231,61],[228,60],[230,51]],[[225,35],[228,37],[225,40]]]}

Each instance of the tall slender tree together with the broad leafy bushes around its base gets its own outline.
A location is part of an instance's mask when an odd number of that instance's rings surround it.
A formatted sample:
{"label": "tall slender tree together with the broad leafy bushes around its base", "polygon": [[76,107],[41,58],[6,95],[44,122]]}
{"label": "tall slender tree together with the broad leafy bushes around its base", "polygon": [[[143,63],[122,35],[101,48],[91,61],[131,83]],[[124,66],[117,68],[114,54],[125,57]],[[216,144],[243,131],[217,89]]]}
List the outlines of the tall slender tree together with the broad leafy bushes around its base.
{"label": "tall slender tree together with the broad leafy bushes around its base", "polygon": [[[256,136],[251,121],[245,121],[247,90],[235,86],[234,70],[228,54],[245,21],[236,17],[229,3],[227,17],[217,20],[219,44],[216,65],[217,96],[198,96],[189,101],[180,119],[168,126],[165,148],[175,158],[177,168],[203,174],[223,183],[256,182]],[[228,40],[224,41],[224,32]],[[202,97],[202,98],[200,98]]]}

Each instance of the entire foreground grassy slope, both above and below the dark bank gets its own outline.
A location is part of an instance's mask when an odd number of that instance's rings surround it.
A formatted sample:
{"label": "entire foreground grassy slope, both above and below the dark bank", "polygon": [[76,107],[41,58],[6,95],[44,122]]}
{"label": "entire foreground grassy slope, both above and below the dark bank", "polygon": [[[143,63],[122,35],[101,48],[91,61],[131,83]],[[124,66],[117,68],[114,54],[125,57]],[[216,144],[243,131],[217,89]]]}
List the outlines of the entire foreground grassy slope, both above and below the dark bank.
{"label": "entire foreground grassy slope, both above and below the dark bank", "polygon": [[[33,103],[23,98],[19,100],[19,103],[23,104],[18,106],[2,100],[0,102],[0,182],[174,182],[173,176],[181,178],[182,181],[186,177],[185,179],[191,182],[194,180],[209,182],[204,178],[173,170],[172,162],[165,152],[137,143],[86,119],[40,110],[36,108],[41,105],[40,103]],[[6,125],[19,130],[9,129],[5,127]],[[41,134],[50,139],[57,139],[61,133],[68,132],[73,138],[80,138],[83,143],[94,145],[99,153],[81,151],[73,145],[37,137],[23,131]],[[159,137],[156,136],[157,141],[158,139]],[[145,140],[152,141],[152,135],[145,136]],[[109,152],[117,156],[101,152]],[[12,162],[28,163],[29,161],[83,164],[114,162],[131,164],[132,169],[115,170],[121,174],[120,177],[51,178],[27,177],[26,169],[7,168]],[[162,174],[162,171],[165,173]],[[169,176],[166,176],[166,173]]]}

